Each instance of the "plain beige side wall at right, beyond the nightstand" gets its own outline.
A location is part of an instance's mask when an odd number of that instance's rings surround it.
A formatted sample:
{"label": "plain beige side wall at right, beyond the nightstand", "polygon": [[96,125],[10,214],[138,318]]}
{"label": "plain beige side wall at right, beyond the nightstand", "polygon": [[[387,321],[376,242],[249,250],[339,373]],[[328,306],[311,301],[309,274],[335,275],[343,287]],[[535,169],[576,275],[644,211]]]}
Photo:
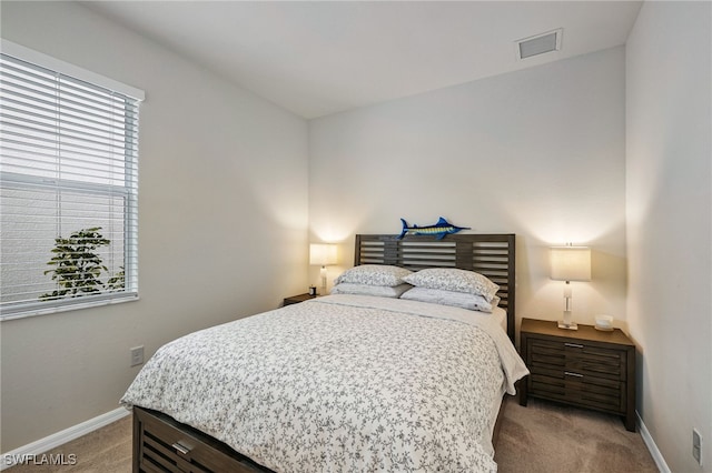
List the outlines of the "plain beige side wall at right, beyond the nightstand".
{"label": "plain beige side wall at right, beyond the nightstand", "polygon": [[645,2],[626,46],[637,406],[673,472],[712,472],[711,27],[709,2]]}

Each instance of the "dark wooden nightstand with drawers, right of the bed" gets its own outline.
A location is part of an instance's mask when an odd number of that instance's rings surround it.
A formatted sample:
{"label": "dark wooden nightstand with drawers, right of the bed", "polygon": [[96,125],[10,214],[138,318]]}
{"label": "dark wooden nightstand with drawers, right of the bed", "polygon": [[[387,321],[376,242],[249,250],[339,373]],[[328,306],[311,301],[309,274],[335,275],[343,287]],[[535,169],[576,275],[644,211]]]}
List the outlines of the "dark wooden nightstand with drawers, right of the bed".
{"label": "dark wooden nightstand with drawers, right of the bed", "polygon": [[635,432],[635,344],[621,330],[522,319],[522,358],[531,374],[520,383],[520,404],[528,396],[619,414]]}

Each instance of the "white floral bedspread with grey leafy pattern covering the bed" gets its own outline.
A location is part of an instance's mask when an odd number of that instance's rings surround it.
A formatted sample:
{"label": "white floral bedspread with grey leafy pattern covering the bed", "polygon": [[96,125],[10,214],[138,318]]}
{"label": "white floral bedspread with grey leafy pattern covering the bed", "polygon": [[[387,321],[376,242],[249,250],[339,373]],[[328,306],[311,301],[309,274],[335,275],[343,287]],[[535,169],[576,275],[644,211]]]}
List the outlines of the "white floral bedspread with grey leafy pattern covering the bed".
{"label": "white floral bedspread with grey leafy pattern covering the bed", "polygon": [[490,472],[494,396],[524,374],[488,314],[342,294],[170,342],[121,403],[280,473]]}

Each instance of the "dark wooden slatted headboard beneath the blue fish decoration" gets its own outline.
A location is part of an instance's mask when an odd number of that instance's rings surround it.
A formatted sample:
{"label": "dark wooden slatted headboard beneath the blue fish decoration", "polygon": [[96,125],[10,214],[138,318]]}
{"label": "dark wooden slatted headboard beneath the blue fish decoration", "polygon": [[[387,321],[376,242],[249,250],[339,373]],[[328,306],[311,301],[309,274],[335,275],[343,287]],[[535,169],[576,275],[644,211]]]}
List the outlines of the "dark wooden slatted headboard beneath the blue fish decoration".
{"label": "dark wooden slatted headboard beneath the blue fish decoration", "polygon": [[392,264],[413,271],[458,268],[476,271],[500,285],[500,306],[507,311],[507,335],[514,343],[515,245],[513,233],[431,235],[357,234],[354,264]]}

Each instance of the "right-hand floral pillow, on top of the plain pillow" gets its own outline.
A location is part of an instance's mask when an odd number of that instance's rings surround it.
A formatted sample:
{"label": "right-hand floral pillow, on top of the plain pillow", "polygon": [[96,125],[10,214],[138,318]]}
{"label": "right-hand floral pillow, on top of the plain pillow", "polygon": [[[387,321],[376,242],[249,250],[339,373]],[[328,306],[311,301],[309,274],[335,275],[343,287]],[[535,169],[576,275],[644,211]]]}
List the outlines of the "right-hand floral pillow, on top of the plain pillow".
{"label": "right-hand floral pillow, on top of the plain pillow", "polygon": [[482,295],[492,301],[500,286],[474,271],[454,268],[431,268],[409,274],[403,280],[418,288],[441,289],[443,291],[466,292]]}

